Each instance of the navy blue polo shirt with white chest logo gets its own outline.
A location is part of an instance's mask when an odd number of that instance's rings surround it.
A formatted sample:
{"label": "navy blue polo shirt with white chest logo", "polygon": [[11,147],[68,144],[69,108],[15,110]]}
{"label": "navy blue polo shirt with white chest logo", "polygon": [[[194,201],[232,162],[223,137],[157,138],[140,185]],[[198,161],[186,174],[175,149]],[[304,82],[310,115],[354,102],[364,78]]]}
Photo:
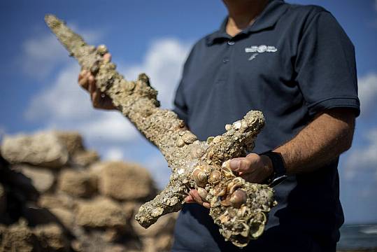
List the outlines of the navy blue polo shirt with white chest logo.
{"label": "navy blue polo shirt with white chest logo", "polygon": [[[176,90],[175,111],[200,140],[259,110],[266,125],[254,152],[262,153],[292,139],[327,109],[349,108],[358,116],[353,43],[327,10],[274,0],[236,36],[226,33],[226,24],[227,18],[194,45]],[[278,206],[269,214],[266,232],[243,251],[278,244],[282,234],[285,241],[335,244],[343,223],[337,165],[334,157],[315,172],[290,176],[277,186]],[[184,205],[173,251],[232,250],[237,251],[221,237],[207,209]]]}

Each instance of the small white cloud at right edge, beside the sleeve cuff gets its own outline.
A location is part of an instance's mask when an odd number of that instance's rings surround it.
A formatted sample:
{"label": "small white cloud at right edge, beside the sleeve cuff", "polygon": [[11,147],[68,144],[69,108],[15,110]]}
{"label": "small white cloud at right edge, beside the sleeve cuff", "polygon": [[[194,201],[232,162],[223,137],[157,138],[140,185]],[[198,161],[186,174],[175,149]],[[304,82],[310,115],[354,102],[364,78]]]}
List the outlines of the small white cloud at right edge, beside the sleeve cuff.
{"label": "small white cloud at right edge, beside the sleeve cuff", "polygon": [[362,114],[367,115],[376,106],[377,73],[369,73],[358,80]]}

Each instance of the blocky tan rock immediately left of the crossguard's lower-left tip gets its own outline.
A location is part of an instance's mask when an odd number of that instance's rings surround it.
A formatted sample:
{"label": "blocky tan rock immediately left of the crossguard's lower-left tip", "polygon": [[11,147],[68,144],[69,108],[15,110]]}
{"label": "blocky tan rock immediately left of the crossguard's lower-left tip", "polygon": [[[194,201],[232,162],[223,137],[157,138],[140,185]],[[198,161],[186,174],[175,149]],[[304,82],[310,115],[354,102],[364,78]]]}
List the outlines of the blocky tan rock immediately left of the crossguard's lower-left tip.
{"label": "blocky tan rock immediately left of the crossguard's lower-left tip", "polygon": [[79,202],[76,223],[86,228],[126,228],[127,216],[120,204],[107,198]]}

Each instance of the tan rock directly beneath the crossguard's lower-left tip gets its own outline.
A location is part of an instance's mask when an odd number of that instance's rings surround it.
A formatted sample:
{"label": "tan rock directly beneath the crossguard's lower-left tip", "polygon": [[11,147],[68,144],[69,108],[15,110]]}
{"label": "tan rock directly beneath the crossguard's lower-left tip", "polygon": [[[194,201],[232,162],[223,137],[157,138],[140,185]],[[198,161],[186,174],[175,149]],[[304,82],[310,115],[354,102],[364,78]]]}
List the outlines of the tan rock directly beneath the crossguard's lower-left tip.
{"label": "tan rock directly beneath the crossguard's lower-left tip", "polygon": [[141,237],[155,237],[159,234],[170,234],[174,230],[174,224],[176,223],[177,213],[166,214],[161,216],[157,222],[145,229],[133,218],[131,221],[132,228],[134,228],[137,235]]}

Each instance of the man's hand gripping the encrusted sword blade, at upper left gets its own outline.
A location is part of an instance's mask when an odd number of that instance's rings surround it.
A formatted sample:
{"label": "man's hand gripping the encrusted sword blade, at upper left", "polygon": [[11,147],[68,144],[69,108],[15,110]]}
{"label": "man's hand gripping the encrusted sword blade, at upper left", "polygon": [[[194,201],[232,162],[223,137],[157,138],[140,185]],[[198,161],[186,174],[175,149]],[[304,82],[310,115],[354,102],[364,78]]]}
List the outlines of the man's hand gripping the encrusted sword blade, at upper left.
{"label": "man's hand gripping the encrusted sword blade, at upper left", "polygon": [[[104,60],[110,62],[111,54],[106,53],[104,55]],[[115,106],[113,105],[110,97],[102,93],[101,90],[96,87],[96,79],[94,78],[92,73],[90,73],[90,71],[83,70],[80,72],[80,74],[78,75],[78,84],[80,84],[80,86],[85,90],[89,91],[94,108],[106,110],[115,109]]]}

